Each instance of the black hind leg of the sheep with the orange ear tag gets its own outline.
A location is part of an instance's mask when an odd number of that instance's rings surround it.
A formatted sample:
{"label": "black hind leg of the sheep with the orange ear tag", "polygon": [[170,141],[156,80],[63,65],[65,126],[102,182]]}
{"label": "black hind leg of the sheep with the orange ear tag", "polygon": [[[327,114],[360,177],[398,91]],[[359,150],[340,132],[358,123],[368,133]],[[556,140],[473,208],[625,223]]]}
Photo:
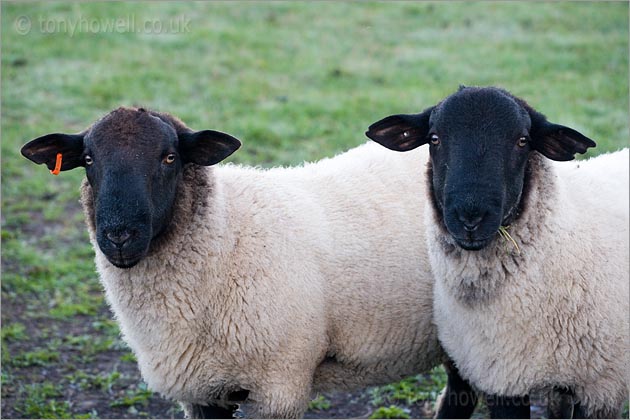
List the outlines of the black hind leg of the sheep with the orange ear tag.
{"label": "black hind leg of the sheep with the orange ear tag", "polygon": [[448,375],[446,388],[436,408],[438,419],[466,419],[472,416],[477,405],[477,393],[470,384],[459,376],[459,371],[450,360],[444,363]]}

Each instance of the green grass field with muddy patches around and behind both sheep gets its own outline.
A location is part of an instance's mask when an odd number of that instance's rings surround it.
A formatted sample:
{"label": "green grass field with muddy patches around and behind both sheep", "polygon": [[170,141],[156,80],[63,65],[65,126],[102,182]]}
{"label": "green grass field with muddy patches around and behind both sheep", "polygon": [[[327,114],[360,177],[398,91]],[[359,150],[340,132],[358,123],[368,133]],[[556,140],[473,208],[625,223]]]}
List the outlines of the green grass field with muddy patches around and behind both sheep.
{"label": "green grass field with muddy patches around and behind both sheep", "polygon": [[[141,382],[104,302],[83,173],[28,162],[19,149],[32,138],[144,105],[240,138],[231,162],[291,165],[357,146],[372,122],[466,84],[524,97],[595,139],[590,156],[628,145],[627,2],[1,7],[5,418],[181,417]],[[366,391],[369,412],[355,415],[418,416],[442,383],[436,371]],[[334,413],[328,403],[310,415]]]}

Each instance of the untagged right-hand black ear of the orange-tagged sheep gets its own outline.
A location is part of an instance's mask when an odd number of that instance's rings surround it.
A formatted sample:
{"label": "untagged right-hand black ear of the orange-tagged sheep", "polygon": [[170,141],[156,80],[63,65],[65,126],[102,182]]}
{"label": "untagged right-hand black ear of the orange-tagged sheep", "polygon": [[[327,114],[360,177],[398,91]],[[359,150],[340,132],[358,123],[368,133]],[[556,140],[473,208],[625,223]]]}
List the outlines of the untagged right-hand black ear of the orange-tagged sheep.
{"label": "untagged right-hand black ear of the orange-tagged sheep", "polygon": [[238,139],[214,130],[180,133],[178,138],[184,163],[202,166],[219,163],[241,147]]}

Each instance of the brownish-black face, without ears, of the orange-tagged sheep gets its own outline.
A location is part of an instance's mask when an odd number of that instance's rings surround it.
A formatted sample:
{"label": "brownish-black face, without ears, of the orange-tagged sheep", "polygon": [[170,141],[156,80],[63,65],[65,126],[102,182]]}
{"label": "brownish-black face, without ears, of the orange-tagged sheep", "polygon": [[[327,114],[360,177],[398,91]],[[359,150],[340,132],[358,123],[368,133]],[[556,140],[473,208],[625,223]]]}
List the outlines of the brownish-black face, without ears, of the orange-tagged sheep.
{"label": "brownish-black face, without ears, of the orange-tagged sheep", "polygon": [[[120,132],[104,120],[84,139],[85,170],[94,193],[96,240],[117,267],[132,267],[170,221],[182,172],[175,129],[148,113]],[[115,164],[112,164],[115,162]]]}

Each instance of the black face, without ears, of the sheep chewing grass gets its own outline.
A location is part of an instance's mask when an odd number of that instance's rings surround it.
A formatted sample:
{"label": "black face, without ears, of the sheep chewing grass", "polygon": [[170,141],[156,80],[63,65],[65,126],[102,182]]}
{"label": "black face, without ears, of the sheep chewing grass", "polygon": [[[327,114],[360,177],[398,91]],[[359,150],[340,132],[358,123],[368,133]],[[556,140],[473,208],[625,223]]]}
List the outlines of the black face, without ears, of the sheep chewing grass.
{"label": "black face, without ears, of the sheep chewing grass", "polygon": [[429,120],[433,195],[464,249],[488,244],[517,208],[531,150],[531,120],[496,91],[453,95]]}

